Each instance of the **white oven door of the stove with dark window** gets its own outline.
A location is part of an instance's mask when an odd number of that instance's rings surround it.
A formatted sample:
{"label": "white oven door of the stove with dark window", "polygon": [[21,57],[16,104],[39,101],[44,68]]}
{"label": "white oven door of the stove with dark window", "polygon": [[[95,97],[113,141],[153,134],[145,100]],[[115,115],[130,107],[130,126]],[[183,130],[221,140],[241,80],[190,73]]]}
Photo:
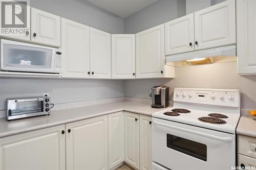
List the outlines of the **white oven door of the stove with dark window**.
{"label": "white oven door of the stove with dark window", "polygon": [[155,117],[152,129],[153,161],[169,169],[231,169],[236,165],[234,134]]}

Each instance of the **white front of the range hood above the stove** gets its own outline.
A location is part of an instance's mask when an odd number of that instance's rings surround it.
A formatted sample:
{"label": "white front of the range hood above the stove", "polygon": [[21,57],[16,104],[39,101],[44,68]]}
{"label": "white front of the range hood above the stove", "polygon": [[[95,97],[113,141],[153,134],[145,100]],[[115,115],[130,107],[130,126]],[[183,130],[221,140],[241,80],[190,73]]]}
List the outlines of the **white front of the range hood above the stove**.
{"label": "white front of the range hood above the stove", "polygon": [[166,63],[174,62],[174,61],[207,58],[207,57],[217,57],[217,56],[234,57],[236,55],[237,55],[237,46],[236,44],[233,44],[233,45],[226,45],[226,46],[221,46],[216,48],[208,48],[206,50],[198,50],[194,52],[166,56]]}

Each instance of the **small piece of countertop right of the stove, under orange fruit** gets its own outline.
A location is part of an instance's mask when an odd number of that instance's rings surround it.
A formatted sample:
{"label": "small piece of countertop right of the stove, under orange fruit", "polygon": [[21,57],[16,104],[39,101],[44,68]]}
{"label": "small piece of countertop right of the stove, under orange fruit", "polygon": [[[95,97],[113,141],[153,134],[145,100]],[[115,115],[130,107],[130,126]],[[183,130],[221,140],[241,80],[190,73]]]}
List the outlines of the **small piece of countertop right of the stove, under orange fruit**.
{"label": "small piece of countertop right of the stove, under orange fruit", "polygon": [[237,127],[237,134],[256,138],[256,120],[250,116],[241,116]]}

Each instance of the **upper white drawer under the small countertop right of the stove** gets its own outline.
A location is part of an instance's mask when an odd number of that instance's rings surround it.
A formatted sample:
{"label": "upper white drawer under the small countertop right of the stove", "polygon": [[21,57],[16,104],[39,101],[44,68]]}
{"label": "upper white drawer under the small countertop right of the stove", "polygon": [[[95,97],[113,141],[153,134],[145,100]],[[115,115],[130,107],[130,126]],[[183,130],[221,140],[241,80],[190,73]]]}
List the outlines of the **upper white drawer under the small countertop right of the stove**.
{"label": "upper white drawer under the small countertop right of the stove", "polygon": [[256,138],[239,135],[238,153],[256,158]]}

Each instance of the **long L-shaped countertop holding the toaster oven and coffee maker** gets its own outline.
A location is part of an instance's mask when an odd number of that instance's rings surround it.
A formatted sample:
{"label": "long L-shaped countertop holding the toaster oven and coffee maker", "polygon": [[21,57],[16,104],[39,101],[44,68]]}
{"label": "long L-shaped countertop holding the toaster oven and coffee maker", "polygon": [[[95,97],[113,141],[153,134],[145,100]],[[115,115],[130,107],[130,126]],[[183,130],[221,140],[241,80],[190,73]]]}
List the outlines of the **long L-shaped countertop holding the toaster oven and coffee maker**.
{"label": "long L-shaped countertop holding the toaster oven and coffee maker", "polygon": [[55,110],[49,116],[38,116],[26,119],[7,121],[7,118],[0,118],[0,137],[15,135],[33,130],[67,124],[82,119],[92,118],[119,111],[129,111],[138,114],[152,116],[153,113],[169,109],[155,109],[148,104],[135,102],[113,102],[100,105],[76,107],[63,110]]}

